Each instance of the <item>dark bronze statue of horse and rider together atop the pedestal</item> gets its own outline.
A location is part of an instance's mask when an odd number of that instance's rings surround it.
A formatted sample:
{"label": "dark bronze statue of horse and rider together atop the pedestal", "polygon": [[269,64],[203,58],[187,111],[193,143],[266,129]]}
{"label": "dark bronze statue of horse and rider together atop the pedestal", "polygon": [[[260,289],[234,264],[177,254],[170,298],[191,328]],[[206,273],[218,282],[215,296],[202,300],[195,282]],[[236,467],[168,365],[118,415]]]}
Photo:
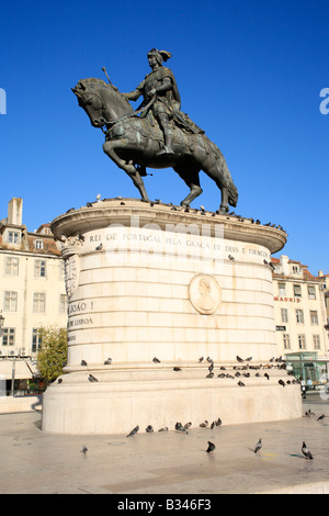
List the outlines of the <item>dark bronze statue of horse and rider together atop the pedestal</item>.
{"label": "dark bronze statue of horse and rider together atop the pedestal", "polygon": [[[146,167],[172,167],[190,188],[181,202],[189,207],[202,193],[198,172],[203,170],[222,191],[219,213],[237,205],[238,191],[219,148],[181,111],[181,99],[173,72],[162,65],[171,54],[152,48],[148,55],[151,71],[129,93],[95,78],[80,79],[73,93],[93,127],[105,134],[104,153],[122,168],[149,201],[143,177]],[[134,111],[129,101],[143,97]]]}

